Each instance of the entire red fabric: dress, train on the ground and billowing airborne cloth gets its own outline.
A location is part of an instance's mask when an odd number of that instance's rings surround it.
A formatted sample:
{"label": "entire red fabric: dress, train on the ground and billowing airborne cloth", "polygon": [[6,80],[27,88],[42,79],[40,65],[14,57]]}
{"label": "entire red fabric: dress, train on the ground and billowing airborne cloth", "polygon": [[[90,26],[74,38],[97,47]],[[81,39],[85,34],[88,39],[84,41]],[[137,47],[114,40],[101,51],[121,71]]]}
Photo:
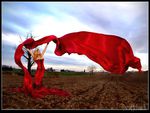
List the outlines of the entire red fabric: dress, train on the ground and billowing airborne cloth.
{"label": "entire red fabric: dress, train on the ground and billowing airborne cloth", "polygon": [[[42,78],[45,68],[43,61],[36,61],[38,67],[35,81],[21,62],[21,56],[24,54],[22,47],[33,49],[41,44],[54,41],[56,43],[55,54],[61,56],[65,53],[77,53],[86,55],[89,59],[100,64],[106,71],[115,74],[123,74],[128,67],[136,68],[141,71],[140,59],[135,57],[130,44],[123,38],[114,35],[105,35],[94,32],[74,32],[66,34],[60,38],[54,35],[43,37],[37,41],[32,38],[25,40],[20,44],[15,52],[14,58],[16,64],[24,71],[24,85],[17,89],[19,92],[30,94],[32,97],[43,97],[47,94],[57,94],[60,96],[68,96],[69,93],[61,89],[48,89],[42,86]],[[33,84],[41,87],[34,88]]]}

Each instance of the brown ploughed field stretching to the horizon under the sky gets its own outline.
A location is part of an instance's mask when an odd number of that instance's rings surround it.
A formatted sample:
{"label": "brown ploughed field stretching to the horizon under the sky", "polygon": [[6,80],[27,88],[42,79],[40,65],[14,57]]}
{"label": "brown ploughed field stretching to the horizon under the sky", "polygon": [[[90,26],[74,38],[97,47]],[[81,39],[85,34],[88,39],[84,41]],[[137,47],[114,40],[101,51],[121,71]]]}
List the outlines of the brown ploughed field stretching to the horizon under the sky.
{"label": "brown ploughed field stretching to the horizon under the sky", "polygon": [[61,88],[72,96],[48,95],[43,99],[8,91],[22,86],[21,71],[3,71],[1,77],[3,109],[148,109],[148,72],[46,72],[44,86]]}

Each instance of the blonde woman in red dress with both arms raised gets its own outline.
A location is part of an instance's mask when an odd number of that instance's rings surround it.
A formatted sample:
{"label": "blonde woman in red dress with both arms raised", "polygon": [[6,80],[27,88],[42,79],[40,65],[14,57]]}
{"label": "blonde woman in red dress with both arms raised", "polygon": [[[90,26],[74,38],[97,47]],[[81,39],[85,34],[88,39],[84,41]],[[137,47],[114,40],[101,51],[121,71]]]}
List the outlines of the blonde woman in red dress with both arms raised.
{"label": "blonde woman in red dress with both arms raised", "polygon": [[42,53],[40,52],[40,50],[38,48],[36,48],[33,52],[29,49],[28,52],[31,54],[31,56],[33,57],[33,60],[37,63],[37,71],[35,72],[35,80],[33,83],[33,88],[41,88],[42,86],[42,78],[44,76],[44,72],[45,72],[45,67],[44,67],[44,53],[46,52],[47,46],[49,43],[47,43],[47,45],[45,46],[44,50],[42,51]]}

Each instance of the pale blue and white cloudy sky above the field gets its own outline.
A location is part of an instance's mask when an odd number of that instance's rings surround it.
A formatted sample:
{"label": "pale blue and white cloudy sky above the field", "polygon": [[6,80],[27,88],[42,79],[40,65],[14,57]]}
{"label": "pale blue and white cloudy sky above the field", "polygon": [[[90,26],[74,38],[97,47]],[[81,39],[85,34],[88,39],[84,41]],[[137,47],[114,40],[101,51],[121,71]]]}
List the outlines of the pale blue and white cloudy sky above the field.
{"label": "pale blue and white cloudy sky above the field", "polygon": [[[24,41],[28,33],[38,40],[76,31],[125,38],[141,59],[142,69],[148,69],[148,2],[2,2],[2,65],[18,67],[14,48],[21,43],[19,35]],[[44,47],[45,44],[40,46],[40,50]],[[48,46],[44,56],[46,68],[83,71],[95,65],[98,71],[103,70],[84,55],[56,56],[55,47],[53,42]],[[22,62],[26,65],[23,58]]]}

